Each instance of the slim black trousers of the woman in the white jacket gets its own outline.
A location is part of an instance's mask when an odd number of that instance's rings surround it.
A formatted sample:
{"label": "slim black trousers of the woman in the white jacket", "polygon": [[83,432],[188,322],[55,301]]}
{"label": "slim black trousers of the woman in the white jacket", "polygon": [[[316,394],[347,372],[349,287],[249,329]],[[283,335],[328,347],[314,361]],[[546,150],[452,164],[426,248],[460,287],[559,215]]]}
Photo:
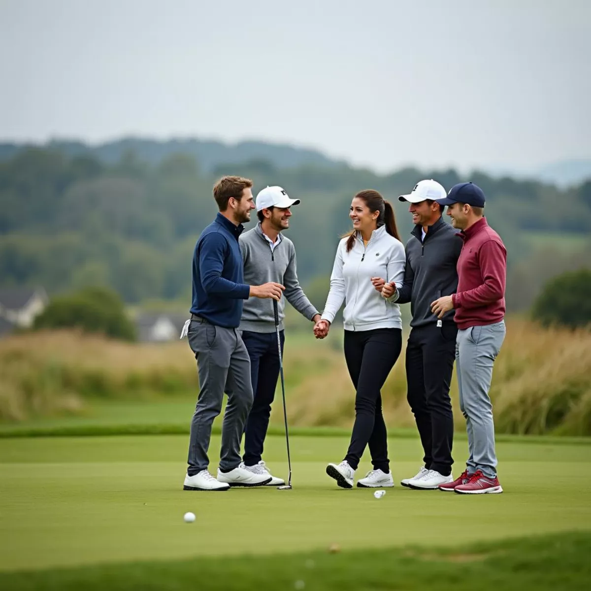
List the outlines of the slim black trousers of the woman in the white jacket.
{"label": "slim black trousers of the woman in the white jacket", "polygon": [[389,472],[381,388],[402,349],[402,330],[345,330],[345,360],[356,389],[355,424],[345,459],[353,470],[369,445],[375,470]]}

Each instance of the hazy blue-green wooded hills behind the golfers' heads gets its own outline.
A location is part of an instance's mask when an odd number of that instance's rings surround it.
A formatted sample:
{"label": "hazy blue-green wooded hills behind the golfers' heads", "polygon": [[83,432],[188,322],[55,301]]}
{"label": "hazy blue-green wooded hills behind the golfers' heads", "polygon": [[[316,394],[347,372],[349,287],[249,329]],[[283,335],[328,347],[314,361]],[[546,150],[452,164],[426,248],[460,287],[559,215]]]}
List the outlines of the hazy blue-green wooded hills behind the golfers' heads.
{"label": "hazy blue-green wooded hills behind the golfers' heads", "polygon": [[183,153],[148,164],[129,150],[108,162],[82,150],[30,147],[0,161],[0,285],[43,285],[50,294],[103,286],[127,303],[188,305],[193,246],[216,213],[212,185],[222,174],[252,178],[255,193],[280,184],[301,199],[288,232],[304,285],[327,282],[339,236],[349,228],[350,199],[361,189],[391,200],[406,239],[410,215],[397,197],[421,178],[447,189],[472,180],[485,191],[486,216],[508,246],[509,309],[529,307],[552,275],[586,265],[591,181],[559,190],[454,170],[378,175],[313,158],[289,168],[264,158],[202,168]]}

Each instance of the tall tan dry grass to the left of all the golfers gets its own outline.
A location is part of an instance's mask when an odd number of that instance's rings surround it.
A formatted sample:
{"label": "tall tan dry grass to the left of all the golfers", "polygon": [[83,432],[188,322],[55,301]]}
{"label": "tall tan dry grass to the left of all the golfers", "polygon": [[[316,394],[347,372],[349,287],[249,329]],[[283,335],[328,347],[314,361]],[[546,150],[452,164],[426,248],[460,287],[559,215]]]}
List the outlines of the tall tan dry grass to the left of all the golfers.
{"label": "tall tan dry grass to the left of all the golfers", "polygon": [[145,398],[197,388],[187,343],[134,344],[80,332],[0,340],[0,419],[80,413],[85,400]]}

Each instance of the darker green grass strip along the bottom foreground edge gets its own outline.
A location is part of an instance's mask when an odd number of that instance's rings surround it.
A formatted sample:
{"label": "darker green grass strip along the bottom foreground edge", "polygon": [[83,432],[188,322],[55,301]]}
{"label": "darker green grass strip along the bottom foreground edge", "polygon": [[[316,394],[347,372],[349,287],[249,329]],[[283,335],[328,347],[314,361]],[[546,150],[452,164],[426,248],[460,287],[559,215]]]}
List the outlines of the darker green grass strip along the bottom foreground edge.
{"label": "darker green grass strip along the bottom foreground edge", "polygon": [[[554,534],[442,548],[316,551],[264,557],[194,558],[0,574],[14,591],[110,589],[302,589],[570,591],[589,588],[591,534]],[[198,581],[196,583],[196,580]]]}

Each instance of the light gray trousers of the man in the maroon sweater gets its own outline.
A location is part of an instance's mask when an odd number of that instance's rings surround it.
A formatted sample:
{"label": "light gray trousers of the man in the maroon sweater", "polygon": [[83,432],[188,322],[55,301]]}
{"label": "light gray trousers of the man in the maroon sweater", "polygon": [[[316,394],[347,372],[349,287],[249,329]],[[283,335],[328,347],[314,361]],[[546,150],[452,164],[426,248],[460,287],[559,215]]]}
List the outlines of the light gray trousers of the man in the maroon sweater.
{"label": "light gray trousers of the man in the maroon sweater", "polygon": [[458,330],[456,375],[460,410],[466,418],[468,434],[468,473],[480,470],[496,476],[495,424],[492,418],[492,366],[505,339],[505,322],[472,326]]}

